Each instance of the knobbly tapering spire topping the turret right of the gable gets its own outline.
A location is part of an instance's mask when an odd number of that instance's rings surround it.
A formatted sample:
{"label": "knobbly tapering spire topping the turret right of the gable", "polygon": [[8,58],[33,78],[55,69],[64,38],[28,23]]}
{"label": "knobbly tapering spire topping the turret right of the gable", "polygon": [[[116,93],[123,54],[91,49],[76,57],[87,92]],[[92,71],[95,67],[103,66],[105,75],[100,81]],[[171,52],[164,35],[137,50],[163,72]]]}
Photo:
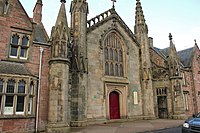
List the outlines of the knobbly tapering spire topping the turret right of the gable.
{"label": "knobbly tapering spire topping the turret right of the gable", "polygon": [[140,0],[136,0],[136,13],[135,13],[135,24],[145,24],[145,18],[142,10]]}

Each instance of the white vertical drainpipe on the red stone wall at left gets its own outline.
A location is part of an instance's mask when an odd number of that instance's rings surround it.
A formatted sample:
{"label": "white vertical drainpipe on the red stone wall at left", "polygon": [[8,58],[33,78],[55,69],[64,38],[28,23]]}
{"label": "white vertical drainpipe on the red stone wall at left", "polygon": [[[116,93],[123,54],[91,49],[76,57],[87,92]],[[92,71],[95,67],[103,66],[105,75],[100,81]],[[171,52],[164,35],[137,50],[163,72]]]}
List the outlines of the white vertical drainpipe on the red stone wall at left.
{"label": "white vertical drainpipe on the red stone wall at left", "polygon": [[38,92],[37,92],[37,110],[36,110],[36,122],[35,122],[35,131],[38,132],[38,121],[39,121],[39,103],[40,103],[40,83],[41,83],[41,74],[42,74],[42,54],[43,48],[40,47],[40,66],[39,66],[39,80],[38,80]]}

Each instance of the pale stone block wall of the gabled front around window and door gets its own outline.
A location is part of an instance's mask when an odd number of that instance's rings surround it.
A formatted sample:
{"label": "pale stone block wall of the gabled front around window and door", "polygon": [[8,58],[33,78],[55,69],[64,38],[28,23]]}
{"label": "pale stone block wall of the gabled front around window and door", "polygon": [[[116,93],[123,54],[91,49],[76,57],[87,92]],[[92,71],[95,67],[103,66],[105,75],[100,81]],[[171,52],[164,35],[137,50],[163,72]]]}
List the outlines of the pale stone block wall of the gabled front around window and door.
{"label": "pale stone block wall of the gabled front around window and door", "polygon": [[[110,85],[123,84],[127,89],[127,112],[125,117],[134,118],[142,116],[142,100],[140,86],[140,71],[139,71],[139,47],[128,36],[128,33],[116,23],[116,30],[119,31],[122,42],[124,42],[125,56],[125,77],[124,79],[109,78],[104,76],[104,51],[103,51],[103,36],[109,32],[112,21],[102,24],[98,28],[90,31],[87,35],[88,47],[88,101],[87,101],[87,118],[88,119],[109,119],[108,117],[108,94],[106,93],[106,83]],[[139,104],[133,104],[133,91],[138,91]],[[126,108],[126,107],[124,107]]]}

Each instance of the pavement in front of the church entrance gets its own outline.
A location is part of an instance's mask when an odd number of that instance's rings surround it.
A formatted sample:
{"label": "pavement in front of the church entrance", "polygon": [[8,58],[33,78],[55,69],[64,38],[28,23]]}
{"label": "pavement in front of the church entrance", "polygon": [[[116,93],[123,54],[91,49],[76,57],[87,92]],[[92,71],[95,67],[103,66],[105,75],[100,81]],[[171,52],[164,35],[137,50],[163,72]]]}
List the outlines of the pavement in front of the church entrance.
{"label": "pavement in front of the church entrance", "polygon": [[87,127],[71,128],[70,133],[143,133],[174,128],[182,125],[184,120],[156,119],[132,122],[114,122]]}

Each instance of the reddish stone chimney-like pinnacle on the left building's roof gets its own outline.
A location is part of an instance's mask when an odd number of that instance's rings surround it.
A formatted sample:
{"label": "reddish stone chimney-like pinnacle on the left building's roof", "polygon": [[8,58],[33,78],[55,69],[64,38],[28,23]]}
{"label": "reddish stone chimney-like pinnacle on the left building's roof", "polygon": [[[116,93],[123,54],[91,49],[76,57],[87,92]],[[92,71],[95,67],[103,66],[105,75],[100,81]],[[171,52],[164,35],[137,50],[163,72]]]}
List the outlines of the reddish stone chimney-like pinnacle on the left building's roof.
{"label": "reddish stone chimney-like pinnacle on the left building's roof", "polygon": [[33,22],[41,23],[42,21],[42,0],[37,0],[33,9]]}

